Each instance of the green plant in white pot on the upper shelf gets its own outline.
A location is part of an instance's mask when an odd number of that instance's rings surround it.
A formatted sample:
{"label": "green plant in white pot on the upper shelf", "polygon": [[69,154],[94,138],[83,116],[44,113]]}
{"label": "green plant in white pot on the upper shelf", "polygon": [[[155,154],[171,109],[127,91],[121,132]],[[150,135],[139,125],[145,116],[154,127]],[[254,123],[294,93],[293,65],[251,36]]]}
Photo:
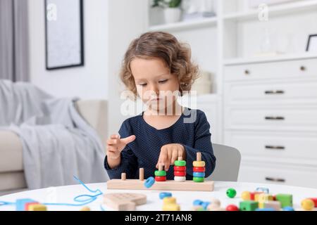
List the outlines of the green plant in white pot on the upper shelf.
{"label": "green plant in white pot on the upper shelf", "polygon": [[165,23],[176,23],[182,16],[181,4],[182,0],[154,0],[152,7],[163,8]]}

